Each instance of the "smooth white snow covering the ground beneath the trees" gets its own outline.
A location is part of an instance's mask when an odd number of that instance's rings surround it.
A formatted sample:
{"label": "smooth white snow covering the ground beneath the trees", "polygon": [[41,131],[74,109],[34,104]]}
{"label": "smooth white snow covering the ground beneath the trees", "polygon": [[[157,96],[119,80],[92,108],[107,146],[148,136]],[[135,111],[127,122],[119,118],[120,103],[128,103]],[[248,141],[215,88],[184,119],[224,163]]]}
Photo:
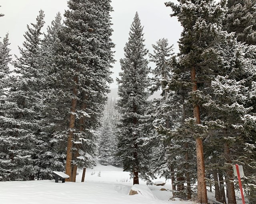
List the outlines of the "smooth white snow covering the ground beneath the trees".
{"label": "smooth white snow covering the ground beneath the trees", "polygon": [[140,181],[134,188],[141,189],[142,194],[130,196],[132,180],[129,173],[112,166],[97,165],[88,169],[83,183],[81,177],[82,171],[79,171],[76,183],[55,183],[54,180],[0,182],[0,204],[192,204],[169,201],[172,196],[170,181],[165,186],[148,187]]}

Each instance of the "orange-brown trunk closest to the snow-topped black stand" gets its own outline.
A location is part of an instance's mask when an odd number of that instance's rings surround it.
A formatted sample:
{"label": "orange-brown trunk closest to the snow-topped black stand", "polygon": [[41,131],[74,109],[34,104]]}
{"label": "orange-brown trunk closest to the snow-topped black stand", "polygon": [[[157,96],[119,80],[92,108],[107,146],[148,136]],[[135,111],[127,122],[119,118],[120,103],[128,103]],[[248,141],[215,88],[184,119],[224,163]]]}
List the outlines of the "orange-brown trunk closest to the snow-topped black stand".
{"label": "orange-brown trunk closest to the snow-topped black stand", "polygon": [[69,175],[69,179],[66,179],[66,181],[72,180],[72,147],[73,147],[73,136],[74,136],[74,127],[76,122],[76,105],[77,105],[77,86],[78,86],[78,76],[74,76],[74,87],[73,87],[73,94],[74,98],[72,98],[71,102],[71,113],[70,113],[70,122],[69,122],[69,135],[68,135],[68,145],[67,145],[67,157],[66,157],[66,174]]}

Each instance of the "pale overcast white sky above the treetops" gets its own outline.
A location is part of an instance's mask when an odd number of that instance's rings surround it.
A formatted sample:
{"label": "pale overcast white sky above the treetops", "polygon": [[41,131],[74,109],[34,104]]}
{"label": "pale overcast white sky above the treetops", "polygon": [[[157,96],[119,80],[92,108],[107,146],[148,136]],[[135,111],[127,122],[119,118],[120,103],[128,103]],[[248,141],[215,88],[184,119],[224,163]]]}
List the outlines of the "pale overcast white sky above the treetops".
{"label": "pale overcast white sky above the treetops", "polygon": [[[124,56],[124,46],[128,40],[130,25],[133,21],[135,12],[138,11],[142,26],[144,26],[144,38],[146,48],[152,52],[152,44],[160,38],[167,38],[169,44],[174,44],[174,51],[178,52],[178,39],[182,27],[176,18],[170,18],[171,9],[164,6],[168,0],[112,0],[114,12],[112,12],[112,23],[114,33],[112,39],[116,44],[114,51],[116,63],[112,70],[112,78],[118,77],[121,71],[119,59]],[[12,54],[19,54],[18,46],[22,46],[24,41],[23,34],[26,31],[26,25],[34,23],[38,11],[44,10],[45,26],[50,25],[58,11],[64,14],[68,9],[66,0],[1,0],[0,13],[5,14],[0,18],[0,37],[9,33],[10,48]],[[154,67],[154,64],[150,64]],[[117,87],[116,81],[112,83],[111,88]]]}

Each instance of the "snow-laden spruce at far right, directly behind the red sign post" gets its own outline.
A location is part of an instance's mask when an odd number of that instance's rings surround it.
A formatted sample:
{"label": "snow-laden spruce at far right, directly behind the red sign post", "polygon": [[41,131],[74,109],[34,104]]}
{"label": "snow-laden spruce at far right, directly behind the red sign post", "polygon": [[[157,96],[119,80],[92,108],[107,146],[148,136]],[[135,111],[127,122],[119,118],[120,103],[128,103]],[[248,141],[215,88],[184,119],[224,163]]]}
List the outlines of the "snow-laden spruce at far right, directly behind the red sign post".
{"label": "snow-laden spruce at far right, directly behind the red sign post", "polygon": [[251,193],[255,192],[255,173],[252,170],[256,168],[252,159],[252,155],[255,155],[255,126],[248,124],[253,124],[255,120],[250,91],[255,80],[256,64],[255,57],[250,56],[255,53],[252,52],[255,46],[237,42],[234,33],[228,36],[221,44],[224,48],[221,51],[223,69],[212,81],[213,96],[204,106],[212,108],[211,116],[222,121],[221,134],[218,131],[216,135],[224,144],[228,201],[236,202],[235,178],[231,167],[236,163],[244,166],[247,176],[243,183],[248,198],[255,198],[255,194]]}

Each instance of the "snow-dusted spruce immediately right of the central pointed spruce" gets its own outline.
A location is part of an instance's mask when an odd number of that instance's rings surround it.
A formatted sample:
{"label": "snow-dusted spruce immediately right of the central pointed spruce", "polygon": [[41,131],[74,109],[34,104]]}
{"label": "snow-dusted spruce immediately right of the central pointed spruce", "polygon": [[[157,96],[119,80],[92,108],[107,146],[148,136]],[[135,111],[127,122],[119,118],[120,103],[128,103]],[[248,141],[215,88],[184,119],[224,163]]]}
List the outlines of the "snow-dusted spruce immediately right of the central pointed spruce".
{"label": "snow-dusted spruce immediately right of the central pointed spruce", "polygon": [[[172,107],[174,98],[172,93],[168,90],[168,83],[171,78],[170,57],[173,55],[172,46],[169,47],[167,39],[160,39],[156,45],[152,45],[154,53],[150,54],[150,61],[156,64],[151,73],[153,78],[151,80],[150,90],[152,93],[160,90],[162,98],[154,99],[151,106],[150,113],[152,114],[153,125],[155,127],[161,126],[161,129],[170,131],[174,126],[174,116],[172,111],[177,112],[176,108]],[[175,117],[175,116],[174,116]],[[172,155],[170,155],[170,141],[164,131],[158,132],[155,138],[155,156],[153,157],[154,172],[166,179],[171,177],[173,164],[170,163]],[[171,166],[171,168],[169,168]],[[167,168],[166,168],[167,167]],[[174,179],[172,179],[172,183]],[[173,185],[174,186],[174,185]],[[173,188],[173,190],[175,190]]]}

